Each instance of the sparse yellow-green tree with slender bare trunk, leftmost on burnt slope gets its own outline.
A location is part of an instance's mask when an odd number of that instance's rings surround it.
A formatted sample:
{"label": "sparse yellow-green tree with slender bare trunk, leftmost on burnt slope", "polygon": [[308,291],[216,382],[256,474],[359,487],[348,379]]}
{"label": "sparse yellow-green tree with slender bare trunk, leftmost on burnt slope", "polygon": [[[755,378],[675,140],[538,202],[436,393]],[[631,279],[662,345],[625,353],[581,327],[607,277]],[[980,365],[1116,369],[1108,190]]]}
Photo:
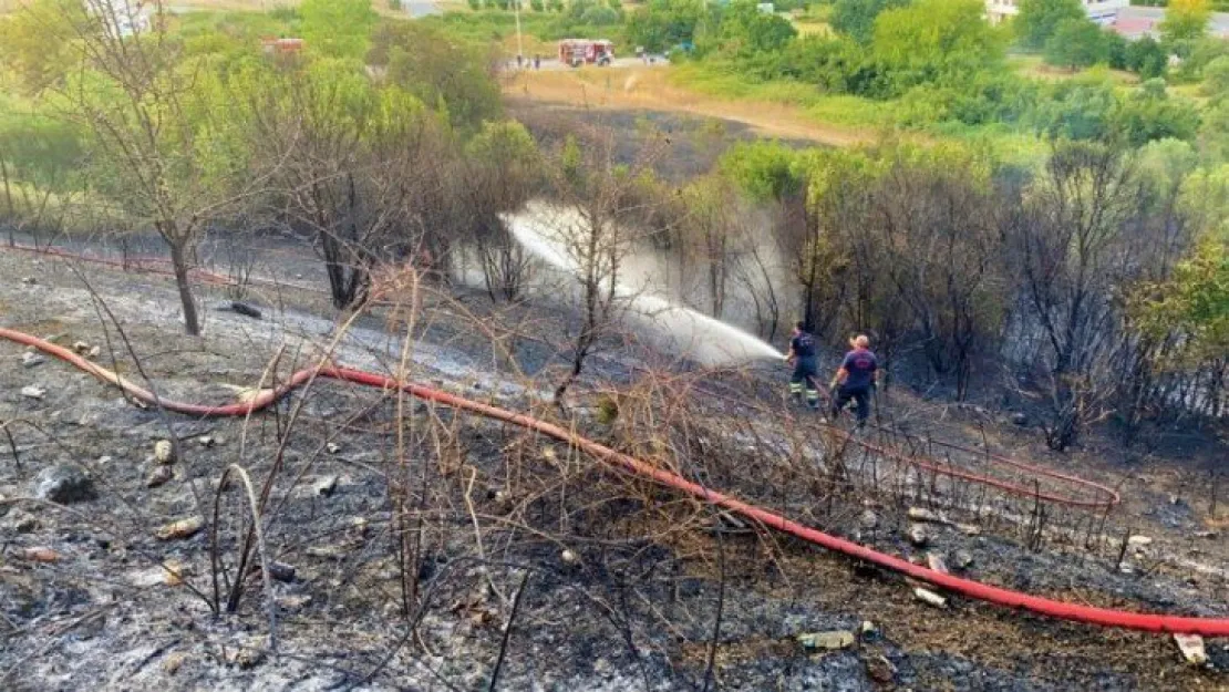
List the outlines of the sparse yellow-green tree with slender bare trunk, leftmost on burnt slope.
{"label": "sparse yellow-green tree with slender bare trunk, leftmost on burnt slope", "polygon": [[[6,61],[29,84],[36,108],[85,133],[91,192],[138,227],[166,242],[183,310],[184,331],[200,333],[190,269],[206,225],[254,186],[246,159],[219,141],[234,107],[208,61],[192,61],[165,21],[167,7],[147,2],[146,25],[132,32],[129,5],[86,6],[42,0],[22,10],[22,31],[53,60],[22,52]],[[37,68],[37,69],[36,69]]]}

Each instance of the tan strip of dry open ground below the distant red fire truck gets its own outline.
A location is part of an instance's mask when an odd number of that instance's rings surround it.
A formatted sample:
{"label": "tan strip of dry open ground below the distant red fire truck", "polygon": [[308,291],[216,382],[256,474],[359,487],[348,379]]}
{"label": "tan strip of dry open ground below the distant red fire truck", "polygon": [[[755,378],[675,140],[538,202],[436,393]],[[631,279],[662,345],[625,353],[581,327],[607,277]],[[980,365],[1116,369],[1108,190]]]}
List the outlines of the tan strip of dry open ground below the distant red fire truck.
{"label": "tan strip of dry open ground below the distant red fire truck", "polygon": [[697,93],[670,81],[662,68],[633,66],[570,71],[521,73],[504,85],[512,100],[564,103],[601,109],[648,109],[688,113],[744,123],[764,136],[805,139],[850,146],[876,139],[875,133],[817,123],[803,109],[767,101],[729,101]]}

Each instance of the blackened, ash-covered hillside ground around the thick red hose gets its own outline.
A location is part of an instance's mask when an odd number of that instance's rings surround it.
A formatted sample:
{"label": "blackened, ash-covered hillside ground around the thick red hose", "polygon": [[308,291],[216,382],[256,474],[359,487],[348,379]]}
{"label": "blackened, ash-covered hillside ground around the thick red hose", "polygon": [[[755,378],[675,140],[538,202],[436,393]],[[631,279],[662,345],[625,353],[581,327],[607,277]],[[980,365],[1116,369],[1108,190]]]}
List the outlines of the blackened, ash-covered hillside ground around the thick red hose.
{"label": "blackened, ash-covered hillside ground around the thick red hose", "polygon": [[[386,372],[404,363],[415,380],[574,425],[893,554],[939,554],[973,579],[1073,602],[1229,617],[1225,538],[1180,460],[1042,458],[1117,487],[1109,516],[986,497],[962,509],[955,487],[945,499],[906,479],[868,484],[857,457],[836,473],[821,450],[832,444],[804,419],[683,402],[629,376],[629,363],[669,354],[608,350],[562,418],[543,403],[564,364],[559,306],[428,296],[403,350],[407,311],[338,328],[312,294],[253,295],[257,321],[205,293],[198,339],[182,336],[165,280],[82,272],[0,252],[0,326],[100,347],[103,366],[190,402],[234,401],[324,354]],[[900,576],[440,406],[317,381],[248,419],[205,420],[38,360],[0,342],[0,419],[17,452],[0,438],[4,690],[1229,690],[1229,642],[1207,640],[1195,666],[1164,635],[954,595],[936,608]],[[661,406],[638,408],[642,397]],[[954,417],[946,435],[976,428],[1041,457],[993,414]],[[251,478],[259,536],[237,473],[219,489],[232,465]],[[918,505],[950,519],[923,522],[924,541],[909,536]],[[1129,535],[1150,541],[1120,549]],[[850,637],[833,649],[798,639],[828,632]]]}

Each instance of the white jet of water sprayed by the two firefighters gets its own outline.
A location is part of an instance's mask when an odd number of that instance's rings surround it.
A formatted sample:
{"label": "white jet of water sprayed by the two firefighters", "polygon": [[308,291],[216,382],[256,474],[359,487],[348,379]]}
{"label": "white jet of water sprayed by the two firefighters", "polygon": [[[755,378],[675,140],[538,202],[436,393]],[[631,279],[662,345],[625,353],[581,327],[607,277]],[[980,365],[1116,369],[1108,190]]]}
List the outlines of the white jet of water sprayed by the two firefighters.
{"label": "white jet of water sprayed by the two firefighters", "polygon": [[[575,210],[530,203],[525,211],[504,218],[509,231],[527,251],[575,278],[579,270],[568,252],[568,237],[580,229]],[[627,301],[629,316],[642,321],[678,353],[707,365],[745,363],[783,354],[756,337],[678,305],[661,295],[619,283],[614,295]]]}

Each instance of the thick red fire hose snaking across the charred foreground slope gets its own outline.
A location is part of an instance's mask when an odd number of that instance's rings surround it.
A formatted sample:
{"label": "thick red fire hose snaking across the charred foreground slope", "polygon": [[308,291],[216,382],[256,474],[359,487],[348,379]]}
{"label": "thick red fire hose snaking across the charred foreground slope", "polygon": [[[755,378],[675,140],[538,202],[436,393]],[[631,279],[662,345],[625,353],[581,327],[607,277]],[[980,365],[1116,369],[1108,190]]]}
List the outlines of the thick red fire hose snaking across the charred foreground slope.
{"label": "thick red fire hose snaking across the charred foreground slope", "polygon": [[543,435],[554,438],[569,445],[573,445],[585,452],[614,466],[623,468],[630,473],[640,476],[643,478],[650,478],[670,488],[675,488],[680,492],[687,493],[694,498],[712,503],[717,506],[724,508],[729,511],[739,514],[746,519],[763,524],[790,536],[795,536],[828,548],[831,551],[837,551],[847,556],[855,557],[858,559],[866,560],[869,563],[880,565],[893,572],[919,579],[922,581],[930,583],[935,586],[940,586],[949,591],[978,599],[989,604],[995,604],[1000,606],[1007,606],[1010,608],[1020,608],[1032,613],[1043,615],[1047,617],[1067,619],[1073,622],[1084,622],[1089,624],[1099,624],[1102,627],[1118,627],[1125,629],[1136,629],[1143,632],[1170,632],[1170,633],[1182,633],[1182,634],[1202,634],[1204,637],[1229,637],[1229,619],[1225,618],[1203,618],[1203,617],[1177,617],[1168,615],[1149,615],[1149,613],[1137,613],[1127,611],[1116,611],[1110,608],[1099,608],[1091,606],[1083,606],[1078,604],[1068,604],[1063,601],[1054,601],[1051,599],[1043,599],[1039,596],[1030,596],[1027,594],[1021,594],[1019,591],[1011,591],[1009,589],[1002,589],[999,586],[991,586],[988,584],[982,584],[980,581],[972,581],[970,579],[961,579],[951,574],[943,572],[935,572],[933,569],[927,569],[924,567],[916,565],[911,562],[903,560],[901,558],[874,551],[865,546],[859,546],[844,538],[838,538],[836,536],[825,533],[816,529],[803,526],[795,521],[790,521],[784,516],[768,511],[766,509],[758,508],[756,505],[747,504],[736,498],[718,493],[704,488],[697,483],[687,481],[686,478],[651,466],[644,461],[628,456],[626,454],[614,451],[605,445],[595,442],[587,438],[574,434],[573,431],[540,420],[531,415],[525,415],[521,413],[515,413],[503,408],[498,408],[482,402],[471,401],[456,395],[434,390],[431,387],[425,387],[414,382],[398,382],[392,377],[379,375],[375,372],[367,372],[364,370],[351,370],[348,368],[333,368],[324,366],[320,369],[306,369],[295,372],[290,380],[275,390],[264,390],[258,396],[252,398],[252,401],[243,403],[232,403],[225,406],[200,406],[192,403],[182,403],[176,401],[167,401],[160,397],[155,397],[151,392],[127,381],[122,376],[106,368],[102,368],[85,358],[81,358],[71,350],[43,340],[38,337],[17,332],[14,329],[0,328],[0,338],[9,339],[25,345],[34,347],[43,353],[54,355],[61,360],[71,363],[73,365],[90,372],[95,377],[109,382],[118,387],[122,387],[130,396],[152,404],[161,406],[167,411],[173,411],[178,413],[186,413],[190,415],[199,417],[227,417],[227,415],[247,415],[253,411],[259,411],[279,398],[288,395],[295,387],[307,382],[313,377],[331,377],[334,380],[343,380],[347,382],[355,382],[359,385],[365,385],[369,387],[379,387],[381,390],[401,390],[414,397],[423,398],[426,401],[434,401],[436,403],[455,408],[458,411],[467,411],[492,418],[495,420],[503,420],[505,423],[511,423],[521,428],[538,431]]}

